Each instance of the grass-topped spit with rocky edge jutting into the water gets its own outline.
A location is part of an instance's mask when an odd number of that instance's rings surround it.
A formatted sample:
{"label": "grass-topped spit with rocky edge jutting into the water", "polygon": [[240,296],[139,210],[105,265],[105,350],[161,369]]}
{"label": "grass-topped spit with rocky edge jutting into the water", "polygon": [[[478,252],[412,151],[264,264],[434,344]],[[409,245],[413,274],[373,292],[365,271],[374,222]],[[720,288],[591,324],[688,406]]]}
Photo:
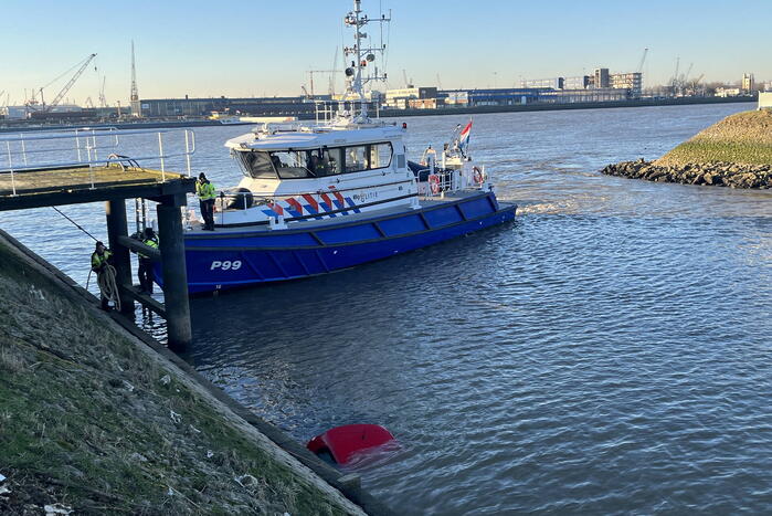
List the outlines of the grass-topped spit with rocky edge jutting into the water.
{"label": "grass-topped spit with rocky edge jutting into the water", "polygon": [[681,185],[772,188],[772,110],[728,116],[657,160],[621,161],[601,172]]}

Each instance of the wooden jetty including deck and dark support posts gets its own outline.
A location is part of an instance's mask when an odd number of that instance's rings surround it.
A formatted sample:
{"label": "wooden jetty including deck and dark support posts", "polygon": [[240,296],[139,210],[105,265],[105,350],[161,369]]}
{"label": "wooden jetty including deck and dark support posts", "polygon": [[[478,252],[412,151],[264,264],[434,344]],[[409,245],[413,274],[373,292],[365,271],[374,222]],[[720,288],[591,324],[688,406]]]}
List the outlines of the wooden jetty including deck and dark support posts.
{"label": "wooden jetty including deck and dark support posts", "polygon": [[[129,160],[102,164],[0,170],[0,211],[105,202],[109,249],[113,252],[121,312],[134,314],[134,302],[167,320],[169,346],[184,348],[192,338],[186,273],[182,212],[195,180],[182,173],[152,170]],[[128,236],[126,199],[158,203],[159,249]],[[129,251],[160,261],[165,304],[141,294],[131,284]]]}

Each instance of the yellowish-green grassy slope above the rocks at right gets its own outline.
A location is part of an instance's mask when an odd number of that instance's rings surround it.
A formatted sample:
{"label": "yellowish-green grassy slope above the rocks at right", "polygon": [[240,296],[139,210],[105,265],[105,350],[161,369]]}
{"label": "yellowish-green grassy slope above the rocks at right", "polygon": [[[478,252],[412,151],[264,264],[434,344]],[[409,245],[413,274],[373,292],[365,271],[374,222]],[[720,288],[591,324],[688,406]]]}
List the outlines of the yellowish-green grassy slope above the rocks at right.
{"label": "yellowish-green grassy slope above the rocks at right", "polygon": [[654,161],[687,164],[772,165],[772,110],[728,116]]}

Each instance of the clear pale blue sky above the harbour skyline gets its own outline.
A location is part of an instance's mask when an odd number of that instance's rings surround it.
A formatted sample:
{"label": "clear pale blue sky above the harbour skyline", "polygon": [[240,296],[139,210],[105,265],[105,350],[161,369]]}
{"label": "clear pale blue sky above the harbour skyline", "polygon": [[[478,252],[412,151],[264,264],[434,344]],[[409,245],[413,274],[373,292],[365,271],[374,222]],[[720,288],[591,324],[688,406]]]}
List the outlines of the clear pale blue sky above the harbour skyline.
{"label": "clear pale blue sky above the harbour skyline", "polygon": [[[92,66],[68,97],[96,103],[129,96],[135,40],[144,98],[298,95],[307,71],[332,66],[349,0],[3,0],[0,91],[11,103],[92,52]],[[772,0],[363,0],[366,12],[391,9],[388,72],[417,85],[512,86],[546,78],[636,69],[649,48],[646,85],[665,83],[676,57],[691,76],[737,82],[743,72],[772,80]],[[376,28],[370,29],[377,31]],[[347,42],[349,40],[347,39]],[[315,78],[317,91],[327,80]],[[64,85],[46,89],[46,98]],[[338,84],[341,84],[339,81]],[[0,99],[0,104],[4,102]]]}

